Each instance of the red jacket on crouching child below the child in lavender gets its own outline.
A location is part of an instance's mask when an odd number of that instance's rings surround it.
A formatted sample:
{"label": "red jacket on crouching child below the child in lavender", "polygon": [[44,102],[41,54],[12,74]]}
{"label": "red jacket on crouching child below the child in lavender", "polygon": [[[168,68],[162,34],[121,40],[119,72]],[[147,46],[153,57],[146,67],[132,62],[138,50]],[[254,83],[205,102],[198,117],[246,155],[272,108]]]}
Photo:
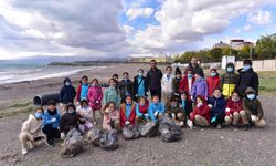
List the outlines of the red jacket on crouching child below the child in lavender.
{"label": "red jacket on crouching child below the child in lavender", "polygon": [[191,115],[190,115],[190,118],[191,118],[191,121],[194,121],[195,115],[200,115],[200,116],[205,117],[208,120],[208,122],[210,123],[211,122],[210,107],[208,106],[204,97],[202,97],[202,96],[199,96],[199,97],[203,101],[203,105],[201,107],[198,107],[195,105]]}

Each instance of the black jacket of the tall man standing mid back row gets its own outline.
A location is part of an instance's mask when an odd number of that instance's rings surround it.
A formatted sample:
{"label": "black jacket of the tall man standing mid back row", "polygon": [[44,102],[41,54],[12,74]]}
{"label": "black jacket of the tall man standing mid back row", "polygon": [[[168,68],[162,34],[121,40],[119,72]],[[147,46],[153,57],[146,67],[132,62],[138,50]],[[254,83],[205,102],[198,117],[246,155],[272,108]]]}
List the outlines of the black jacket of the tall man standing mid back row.
{"label": "black jacket of the tall man standing mid back row", "polygon": [[161,79],[163,73],[159,69],[150,69],[147,73],[147,90],[161,91]]}

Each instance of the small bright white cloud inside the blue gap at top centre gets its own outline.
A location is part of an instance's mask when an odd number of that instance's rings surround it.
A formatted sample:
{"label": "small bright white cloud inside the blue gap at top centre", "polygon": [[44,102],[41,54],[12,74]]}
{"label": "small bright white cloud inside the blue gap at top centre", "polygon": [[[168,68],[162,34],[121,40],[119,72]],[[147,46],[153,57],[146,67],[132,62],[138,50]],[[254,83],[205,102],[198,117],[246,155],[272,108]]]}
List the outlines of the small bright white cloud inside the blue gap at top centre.
{"label": "small bright white cloud inside the blue gap at top centre", "polygon": [[130,8],[127,10],[126,15],[132,21],[139,17],[149,18],[153,12],[152,8]]}

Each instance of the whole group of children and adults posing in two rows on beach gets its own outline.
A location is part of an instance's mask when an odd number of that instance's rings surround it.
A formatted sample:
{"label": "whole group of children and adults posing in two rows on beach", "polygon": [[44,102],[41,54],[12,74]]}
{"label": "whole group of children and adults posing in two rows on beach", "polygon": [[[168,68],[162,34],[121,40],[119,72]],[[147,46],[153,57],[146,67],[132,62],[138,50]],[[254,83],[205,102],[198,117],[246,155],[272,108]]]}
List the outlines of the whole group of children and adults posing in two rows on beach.
{"label": "whole group of children and adults posing in two rows on beach", "polygon": [[49,146],[54,146],[54,139],[65,138],[71,128],[87,133],[98,122],[96,112],[100,113],[102,127],[106,131],[159,122],[163,116],[191,129],[194,125],[264,127],[264,113],[257,97],[258,76],[251,60],[243,64],[238,74],[235,65],[227,63],[222,75],[213,68],[204,79],[195,58],[191,59],[183,74],[179,68],[173,74],[172,66],[167,66],[162,74],[157,62],[151,60],[146,76],[142,69],[138,70],[134,81],[127,72],[123,73],[121,81],[114,74],[104,91],[97,79],[89,83],[84,75],[75,90],[66,77],[60,92],[61,112],[55,101],[49,101],[46,111],[38,107],[22,124],[19,135],[22,154],[28,154],[29,148],[44,138]]}

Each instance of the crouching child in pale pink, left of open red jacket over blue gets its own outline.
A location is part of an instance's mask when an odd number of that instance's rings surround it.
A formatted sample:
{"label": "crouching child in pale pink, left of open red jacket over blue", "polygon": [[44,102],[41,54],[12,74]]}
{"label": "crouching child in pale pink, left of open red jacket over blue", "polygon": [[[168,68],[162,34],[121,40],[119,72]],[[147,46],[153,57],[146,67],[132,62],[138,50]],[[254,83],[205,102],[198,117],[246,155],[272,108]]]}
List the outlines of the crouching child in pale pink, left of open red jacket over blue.
{"label": "crouching child in pale pink, left of open red jacket over blue", "polygon": [[116,110],[115,103],[109,102],[104,107],[104,121],[103,128],[106,131],[110,131],[113,128],[119,129],[120,127],[120,114],[119,111]]}

